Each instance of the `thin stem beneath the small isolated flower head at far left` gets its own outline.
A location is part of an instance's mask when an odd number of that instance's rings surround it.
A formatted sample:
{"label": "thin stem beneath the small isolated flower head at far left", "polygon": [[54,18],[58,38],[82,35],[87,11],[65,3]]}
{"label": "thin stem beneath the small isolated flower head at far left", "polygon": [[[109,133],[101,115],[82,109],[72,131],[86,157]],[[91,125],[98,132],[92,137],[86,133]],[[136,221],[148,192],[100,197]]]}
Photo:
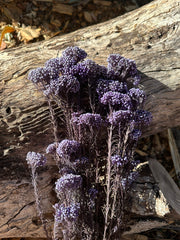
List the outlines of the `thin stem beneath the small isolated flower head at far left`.
{"label": "thin stem beneath the small isolated flower head at far left", "polygon": [[49,237],[48,230],[47,230],[47,225],[46,225],[46,219],[43,216],[43,210],[41,208],[41,201],[40,201],[38,187],[37,187],[37,174],[36,174],[36,170],[34,168],[32,168],[32,184],[33,184],[33,187],[34,187],[36,207],[37,207],[37,211],[38,211],[39,217],[41,219],[41,222],[42,222],[42,225],[43,225],[43,228],[44,228],[44,232],[46,234],[47,239],[52,240],[52,238]]}

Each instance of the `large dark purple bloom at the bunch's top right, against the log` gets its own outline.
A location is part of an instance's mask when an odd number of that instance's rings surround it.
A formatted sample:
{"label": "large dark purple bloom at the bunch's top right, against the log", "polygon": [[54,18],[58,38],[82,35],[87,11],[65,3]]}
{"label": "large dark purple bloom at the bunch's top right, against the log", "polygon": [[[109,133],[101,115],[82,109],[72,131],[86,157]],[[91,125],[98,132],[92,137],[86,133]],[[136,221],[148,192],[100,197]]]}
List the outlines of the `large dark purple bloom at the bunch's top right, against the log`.
{"label": "large dark purple bloom at the bunch's top right, against the log", "polygon": [[117,77],[123,81],[130,81],[135,86],[139,84],[140,76],[133,60],[124,58],[119,54],[111,54],[107,61],[108,72],[114,72]]}

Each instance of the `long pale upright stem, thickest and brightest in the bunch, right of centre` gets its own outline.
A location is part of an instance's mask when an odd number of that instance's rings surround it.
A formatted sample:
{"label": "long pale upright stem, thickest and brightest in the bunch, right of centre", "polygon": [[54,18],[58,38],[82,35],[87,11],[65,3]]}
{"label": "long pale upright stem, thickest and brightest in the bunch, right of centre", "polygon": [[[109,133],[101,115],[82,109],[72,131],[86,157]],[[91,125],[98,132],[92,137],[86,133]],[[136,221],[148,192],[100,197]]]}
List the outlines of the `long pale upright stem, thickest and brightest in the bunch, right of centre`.
{"label": "long pale upright stem, thickest and brightest in the bunch, right of centre", "polygon": [[106,206],[105,206],[105,223],[104,223],[104,234],[103,240],[106,240],[106,232],[108,228],[108,217],[110,210],[110,185],[111,185],[111,145],[112,145],[112,125],[108,134],[108,157],[107,157],[107,176],[106,176]]}

